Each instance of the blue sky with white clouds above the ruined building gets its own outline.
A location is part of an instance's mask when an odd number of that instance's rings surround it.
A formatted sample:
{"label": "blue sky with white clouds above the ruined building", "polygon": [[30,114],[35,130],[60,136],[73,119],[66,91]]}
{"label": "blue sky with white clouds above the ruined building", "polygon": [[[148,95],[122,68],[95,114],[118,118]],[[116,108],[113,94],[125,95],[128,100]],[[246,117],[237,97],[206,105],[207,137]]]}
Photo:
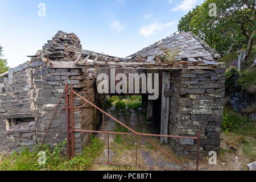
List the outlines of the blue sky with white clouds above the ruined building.
{"label": "blue sky with white clouds above the ruined building", "polygon": [[[84,49],[126,57],[177,30],[203,0],[0,0],[0,44],[10,67],[29,60],[58,30]],[[38,16],[39,3],[46,16]]]}

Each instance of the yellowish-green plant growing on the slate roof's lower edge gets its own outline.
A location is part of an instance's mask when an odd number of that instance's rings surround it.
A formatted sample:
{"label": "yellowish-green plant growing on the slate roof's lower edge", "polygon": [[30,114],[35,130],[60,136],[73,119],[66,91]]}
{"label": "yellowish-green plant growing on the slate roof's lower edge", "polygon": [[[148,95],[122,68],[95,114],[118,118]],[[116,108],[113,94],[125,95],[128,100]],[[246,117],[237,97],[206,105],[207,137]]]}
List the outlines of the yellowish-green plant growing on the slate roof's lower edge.
{"label": "yellowish-green plant growing on the slate roof's lower edge", "polygon": [[163,62],[175,63],[175,58],[180,53],[179,47],[177,47],[175,49],[170,49],[170,48],[160,45],[159,48],[163,52],[163,56],[161,57]]}

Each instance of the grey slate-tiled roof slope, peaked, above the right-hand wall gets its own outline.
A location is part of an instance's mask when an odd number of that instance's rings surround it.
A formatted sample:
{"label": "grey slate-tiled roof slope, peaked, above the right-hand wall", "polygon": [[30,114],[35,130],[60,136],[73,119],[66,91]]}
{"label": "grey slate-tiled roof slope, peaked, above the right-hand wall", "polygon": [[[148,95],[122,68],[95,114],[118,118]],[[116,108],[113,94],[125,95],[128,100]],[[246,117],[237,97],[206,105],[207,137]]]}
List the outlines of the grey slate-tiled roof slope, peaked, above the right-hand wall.
{"label": "grey slate-tiled roof slope, peaked, above the right-hand wall", "polygon": [[147,62],[154,61],[155,56],[162,56],[163,49],[178,50],[175,61],[201,61],[205,64],[217,64],[216,59],[220,57],[215,49],[192,32],[180,32],[156,42],[141,51],[128,56],[130,60],[142,56]]}

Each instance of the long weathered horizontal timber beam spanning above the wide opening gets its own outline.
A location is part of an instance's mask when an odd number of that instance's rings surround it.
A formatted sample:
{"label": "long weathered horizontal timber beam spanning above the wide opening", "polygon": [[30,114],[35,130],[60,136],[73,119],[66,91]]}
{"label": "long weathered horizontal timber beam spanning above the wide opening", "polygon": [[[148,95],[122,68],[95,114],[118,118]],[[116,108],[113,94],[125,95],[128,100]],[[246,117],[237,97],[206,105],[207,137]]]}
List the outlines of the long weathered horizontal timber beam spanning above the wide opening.
{"label": "long weathered horizontal timber beam spanning above the wide opening", "polygon": [[[223,66],[225,63],[223,64]],[[221,64],[222,66],[222,64]],[[77,63],[74,61],[49,61],[50,68],[97,68],[97,69],[217,69],[220,65],[207,65],[203,63],[188,63],[188,64],[163,64],[163,63],[143,63],[143,62],[112,62],[107,63],[102,61],[86,62],[86,64]]]}

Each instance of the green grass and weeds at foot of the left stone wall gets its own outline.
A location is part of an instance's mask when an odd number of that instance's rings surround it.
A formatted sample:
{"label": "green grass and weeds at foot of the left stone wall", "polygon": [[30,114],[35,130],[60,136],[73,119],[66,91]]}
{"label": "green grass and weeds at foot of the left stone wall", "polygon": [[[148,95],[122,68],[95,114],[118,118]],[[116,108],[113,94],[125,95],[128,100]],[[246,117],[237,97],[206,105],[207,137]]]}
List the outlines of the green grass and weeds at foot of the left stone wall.
{"label": "green grass and weeds at foot of the left stone wall", "polygon": [[[64,156],[65,142],[50,147],[48,144],[38,144],[33,151],[24,148],[19,154],[2,156],[0,158],[0,171],[67,171],[67,170],[88,170],[94,160],[100,155],[103,143],[98,138],[92,137],[90,145],[85,147],[81,155],[68,160]],[[39,151],[46,152],[46,165],[38,163]]]}

